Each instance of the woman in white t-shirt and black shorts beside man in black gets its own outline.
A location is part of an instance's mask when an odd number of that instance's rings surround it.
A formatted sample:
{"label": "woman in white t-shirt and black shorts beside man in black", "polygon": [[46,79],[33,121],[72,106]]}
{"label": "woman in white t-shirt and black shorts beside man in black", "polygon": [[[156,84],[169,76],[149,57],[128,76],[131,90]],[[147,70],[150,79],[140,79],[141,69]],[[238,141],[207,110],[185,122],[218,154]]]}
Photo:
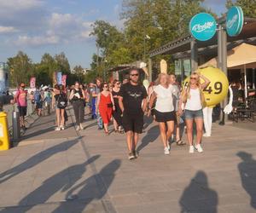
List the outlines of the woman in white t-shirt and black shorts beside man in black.
{"label": "woman in white t-shirt and black shorts beside man in black", "polygon": [[[155,120],[159,122],[161,140],[164,144],[164,153],[170,153],[169,138],[172,135],[174,129],[175,112],[173,106],[172,96],[175,89],[172,84],[169,83],[169,77],[165,73],[160,73],[159,83],[154,88],[154,92],[150,98],[149,107],[153,106],[155,102]],[[166,130],[167,126],[167,130]]]}

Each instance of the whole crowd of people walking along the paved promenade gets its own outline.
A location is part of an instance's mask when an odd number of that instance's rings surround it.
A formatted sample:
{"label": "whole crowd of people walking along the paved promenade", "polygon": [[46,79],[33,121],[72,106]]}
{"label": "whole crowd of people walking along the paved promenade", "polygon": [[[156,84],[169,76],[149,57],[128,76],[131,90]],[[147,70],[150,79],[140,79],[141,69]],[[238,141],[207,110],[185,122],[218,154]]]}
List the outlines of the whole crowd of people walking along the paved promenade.
{"label": "whole crowd of people walking along the paved promenade", "polygon": [[[146,88],[140,83],[140,72],[131,68],[129,78],[122,83],[113,80],[112,83],[102,82],[96,78],[96,83],[74,83],[65,88],[56,84],[49,87],[37,88],[27,93],[25,83],[20,83],[15,100],[20,112],[20,126],[26,129],[26,101],[32,101],[38,116],[42,109],[50,114],[55,111],[56,131],[65,130],[67,122],[66,108],[68,103],[73,106],[76,130],[84,130],[85,107],[88,107],[90,118],[96,119],[98,130],[104,130],[109,135],[109,124],[113,121],[115,133],[125,132],[128,148],[128,158],[138,157],[137,142],[143,133],[143,118],[152,116],[160,128],[160,138],[164,153],[170,153],[170,139],[177,145],[185,145],[182,140],[180,125],[186,125],[189,141],[189,153],[197,150],[203,152],[201,139],[203,135],[204,95],[202,90],[210,83],[209,79],[199,72],[193,72],[189,83],[184,89],[176,81],[174,74],[160,73],[159,78]],[[200,83],[202,79],[203,83]],[[29,98],[27,98],[29,97]],[[196,124],[196,142],[193,144],[193,124]],[[173,136],[175,134],[175,137]]]}

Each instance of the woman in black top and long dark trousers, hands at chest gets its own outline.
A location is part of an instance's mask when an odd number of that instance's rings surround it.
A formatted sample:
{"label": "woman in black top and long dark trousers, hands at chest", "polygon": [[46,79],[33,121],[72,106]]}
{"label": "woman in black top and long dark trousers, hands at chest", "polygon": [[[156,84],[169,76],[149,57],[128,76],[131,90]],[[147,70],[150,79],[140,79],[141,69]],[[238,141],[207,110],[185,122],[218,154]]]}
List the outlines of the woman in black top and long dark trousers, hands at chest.
{"label": "woman in black top and long dark trousers, hands at chest", "polygon": [[73,112],[76,118],[77,131],[84,130],[82,125],[84,121],[84,99],[84,90],[81,89],[79,82],[75,82],[74,88],[70,93],[69,100],[72,101],[73,104]]}

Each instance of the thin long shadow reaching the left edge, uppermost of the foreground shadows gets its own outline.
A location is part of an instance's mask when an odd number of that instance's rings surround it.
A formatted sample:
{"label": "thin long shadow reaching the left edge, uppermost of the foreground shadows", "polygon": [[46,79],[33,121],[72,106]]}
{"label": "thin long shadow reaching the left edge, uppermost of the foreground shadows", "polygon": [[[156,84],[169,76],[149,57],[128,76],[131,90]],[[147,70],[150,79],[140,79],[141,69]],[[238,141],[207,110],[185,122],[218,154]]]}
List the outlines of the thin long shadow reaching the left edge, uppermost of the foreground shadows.
{"label": "thin long shadow reaching the left edge, uppermost of the foreground shadows", "polygon": [[44,160],[55,155],[55,153],[65,152],[67,149],[77,144],[80,138],[81,137],[78,137],[73,141],[64,141],[53,147],[49,147],[48,149],[45,149],[44,151],[33,155],[31,158],[28,158],[26,161],[15,166],[14,168],[4,171],[0,174],[0,184],[14,176],[19,175],[22,172],[25,172],[26,170],[32,169],[37,164],[40,164]]}

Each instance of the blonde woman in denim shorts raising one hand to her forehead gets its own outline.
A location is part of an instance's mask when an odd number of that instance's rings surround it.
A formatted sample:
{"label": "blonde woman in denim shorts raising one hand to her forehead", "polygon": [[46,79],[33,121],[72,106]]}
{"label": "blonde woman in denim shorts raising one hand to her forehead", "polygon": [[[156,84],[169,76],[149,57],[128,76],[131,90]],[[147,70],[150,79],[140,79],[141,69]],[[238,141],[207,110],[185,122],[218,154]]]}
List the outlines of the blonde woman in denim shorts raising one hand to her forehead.
{"label": "blonde woman in denim shorts raising one hand to her forehead", "polygon": [[[200,78],[204,83],[200,83]],[[184,104],[184,114],[187,126],[187,137],[189,141],[189,153],[202,153],[201,138],[203,134],[203,112],[205,98],[202,90],[207,88],[210,80],[198,72],[193,72],[190,76],[188,86],[183,89],[182,97],[179,103],[179,114],[183,113],[182,105]],[[193,146],[193,123],[196,124],[196,145]]]}

